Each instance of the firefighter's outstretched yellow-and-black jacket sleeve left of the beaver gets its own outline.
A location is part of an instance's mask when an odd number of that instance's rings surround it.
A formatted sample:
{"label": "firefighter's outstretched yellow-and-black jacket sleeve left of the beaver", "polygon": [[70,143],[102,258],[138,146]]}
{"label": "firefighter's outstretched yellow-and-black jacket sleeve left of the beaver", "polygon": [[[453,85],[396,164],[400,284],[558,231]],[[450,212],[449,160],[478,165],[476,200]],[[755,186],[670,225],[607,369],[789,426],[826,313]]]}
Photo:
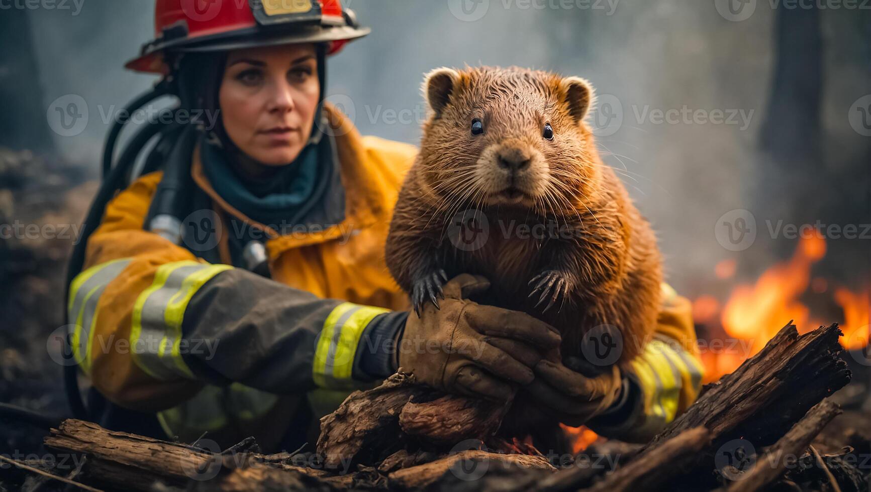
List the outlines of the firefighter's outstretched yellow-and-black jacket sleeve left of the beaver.
{"label": "firefighter's outstretched yellow-and-black jacket sleeve left of the beaver", "polygon": [[368,345],[364,332],[395,329],[374,322],[390,318],[387,310],[208,264],[143,230],[160,178],[149,174],[111,200],[71,284],[73,354],[98,391],[158,411],[206,383],[287,394],[381,376],[361,370],[358,348]]}

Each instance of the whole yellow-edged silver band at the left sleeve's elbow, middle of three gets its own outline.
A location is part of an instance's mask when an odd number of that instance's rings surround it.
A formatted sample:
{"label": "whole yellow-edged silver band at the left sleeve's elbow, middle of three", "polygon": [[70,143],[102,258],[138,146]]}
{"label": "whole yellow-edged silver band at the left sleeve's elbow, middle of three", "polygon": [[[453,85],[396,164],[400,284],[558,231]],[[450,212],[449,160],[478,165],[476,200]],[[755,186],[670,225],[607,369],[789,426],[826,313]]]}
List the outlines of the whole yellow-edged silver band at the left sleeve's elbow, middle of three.
{"label": "whole yellow-edged silver band at the left sleeve's elbow, middle of three", "polygon": [[152,286],[139,294],[132,313],[133,361],[155,379],[193,378],[181,356],[181,324],[187,304],[206,281],[228,265],[186,260],[158,267]]}

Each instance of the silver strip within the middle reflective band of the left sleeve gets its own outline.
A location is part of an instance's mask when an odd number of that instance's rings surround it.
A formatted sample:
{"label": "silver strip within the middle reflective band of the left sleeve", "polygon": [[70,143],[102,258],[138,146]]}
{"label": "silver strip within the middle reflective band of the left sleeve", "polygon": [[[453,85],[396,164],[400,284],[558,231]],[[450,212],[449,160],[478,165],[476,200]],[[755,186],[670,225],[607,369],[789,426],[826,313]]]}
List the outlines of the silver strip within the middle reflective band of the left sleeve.
{"label": "silver strip within the middle reflective band of the left sleeve", "polygon": [[179,368],[172,360],[171,354],[172,345],[175,343],[175,334],[166,329],[166,307],[172,297],[181,291],[184,281],[192,273],[209,266],[193,262],[184,262],[180,266],[178,264],[161,266],[160,268],[172,268],[172,272],[161,284],[159,283],[161,273],[159,269],[159,273],[155,275],[155,285],[152,286],[152,288],[157,288],[151,292],[143,293],[147,297],[145,303],[142,304],[141,318],[138,319],[138,322],[141,323],[138,337],[136,340],[132,340],[134,343],[133,353],[138,355],[136,360],[139,362],[139,366],[158,379],[165,380],[179,376]]}

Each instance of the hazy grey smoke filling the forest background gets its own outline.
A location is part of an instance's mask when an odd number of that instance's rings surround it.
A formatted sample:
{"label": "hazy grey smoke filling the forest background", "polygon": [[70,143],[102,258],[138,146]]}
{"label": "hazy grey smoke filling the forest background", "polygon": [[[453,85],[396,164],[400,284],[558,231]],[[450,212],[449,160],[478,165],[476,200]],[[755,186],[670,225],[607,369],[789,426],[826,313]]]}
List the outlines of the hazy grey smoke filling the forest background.
{"label": "hazy grey smoke filling the forest background", "polygon": [[[698,292],[722,259],[738,259],[758,273],[782,258],[786,239],[772,238],[766,220],[819,218],[800,213],[800,199],[785,191],[769,195],[768,184],[760,182],[767,164],[758,139],[776,56],[776,10],[768,0],[755,2],[753,15],[737,22],[718,10],[719,0],[344,3],[373,33],[330,60],[328,93],[364,135],[416,144],[425,117],[422,76],[438,66],[514,64],[591,80],[600,96],[591,118],[610,122],[599,131],[600,149],[652,221],[679,289]],[[76,17],[31,13],[46,106],[78,94],[91,109],[81,135],[56,137],[67,158],[96,169],[111,123],[101,114],[155,81],[122,69],[153,36],[152,9],[152,2],[87,0]],[[867,140],[857,138],[847,119],[851,104],[871,91],[871,23],[867,16],[864,23],[856,20],[857,14],[822,14],[827,157],[819,172],[792,177],[804,190],[820,188],[827,176],[854,176],[820,191],[820,201],[859,197],[850,205],[858,213],[839,215],[843,208],[836,207],[825,217],[829,221],[868,220]],[[841,185],[853,188],[834,189]],[[753,213],[757,239],[732,251],[715,226],[737,209]],[[864,272],[868,253],[861,251],[868,245],[853,241],[847,247]]]}

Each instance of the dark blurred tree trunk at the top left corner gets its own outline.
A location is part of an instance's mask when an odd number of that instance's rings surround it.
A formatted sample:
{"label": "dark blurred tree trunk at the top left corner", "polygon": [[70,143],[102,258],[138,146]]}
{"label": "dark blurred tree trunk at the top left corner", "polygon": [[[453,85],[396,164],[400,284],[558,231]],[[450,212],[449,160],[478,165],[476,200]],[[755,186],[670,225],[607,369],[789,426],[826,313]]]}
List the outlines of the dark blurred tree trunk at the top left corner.
{"label": "dark blurred tree trunk at the top left corner", "polygon": [[[37,69],[28,10],[0,15],[0,146],[37,152],[54,150]],[[14,47],[14,49],[13,49]]]}

